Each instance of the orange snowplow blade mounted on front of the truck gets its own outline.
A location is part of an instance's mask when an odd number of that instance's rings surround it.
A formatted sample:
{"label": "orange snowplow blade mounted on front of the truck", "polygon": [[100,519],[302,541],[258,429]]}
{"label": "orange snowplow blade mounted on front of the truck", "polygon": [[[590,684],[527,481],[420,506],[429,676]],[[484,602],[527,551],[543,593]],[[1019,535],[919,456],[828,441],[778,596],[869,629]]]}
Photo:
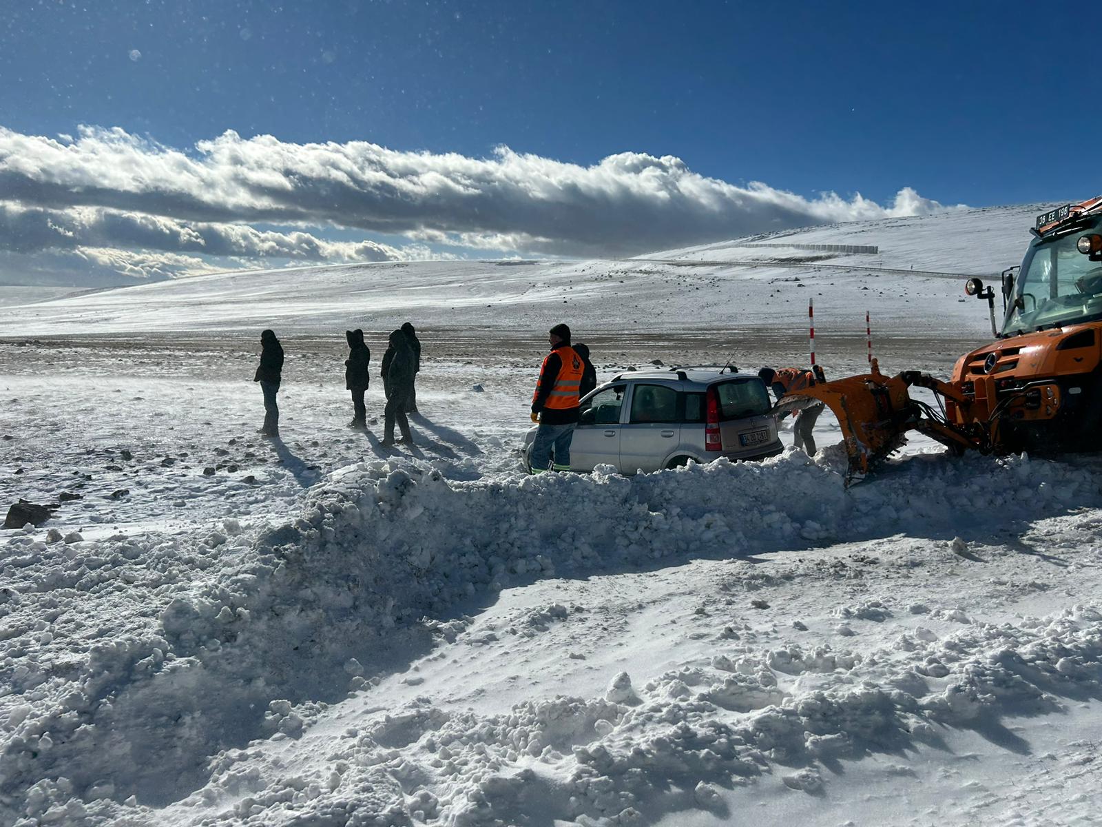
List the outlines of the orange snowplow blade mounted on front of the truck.
{"label": "orange snowplow blade mounted on front of the truck", "polygon": [[842,426],[850,461],[846,485],[903,445],[904,433],[915,427],[916,414],[900,376],[875,372],[821,383],[786,395],[774,412],[796,412],[818,404],[830,408]]}

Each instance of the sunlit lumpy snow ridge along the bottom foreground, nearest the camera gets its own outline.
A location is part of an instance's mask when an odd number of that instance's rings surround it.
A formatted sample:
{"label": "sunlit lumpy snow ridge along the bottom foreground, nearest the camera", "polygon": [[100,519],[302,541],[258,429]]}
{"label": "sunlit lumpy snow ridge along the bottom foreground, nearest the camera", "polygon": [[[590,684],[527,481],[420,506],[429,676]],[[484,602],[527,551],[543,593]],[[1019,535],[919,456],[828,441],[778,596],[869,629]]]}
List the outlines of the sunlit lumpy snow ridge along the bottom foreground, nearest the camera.
{"label": "sunlit lumpy snow ridge along the bottom foreground, nearest the camera", "polygon": [[[732,678],[714,668],[662,676],[628,702],[560,697],[478,716],[419,699],[333,745],[333,795],[291,777],[241,799],[235,815],[328,824],[342,802],[358,802],[360,820],[348,824],[521,824],[537,810],[549,824],[626,824],[663,802],[730,815],[719,791],[770,774],[820,795],[829,783],[820,763],[938,745],[946,728],[998,731],[1004,716],[1051,712],[1062,709],[1060,697],[1091,695],[1099,620],[1076,608],[1020,626],[970,629],[901,656],[877,651],[869,660],[890,664],[878,678],[860,662],[840,664],[788,697],[776,691],[778,674],[767,663],[747,662],[753,672],[738,683],[756,686],[758,697],[745,705],[723,702]],[[937,677],[933,663],[946,664]],[[207,795],[240,786],[233,764]]]}

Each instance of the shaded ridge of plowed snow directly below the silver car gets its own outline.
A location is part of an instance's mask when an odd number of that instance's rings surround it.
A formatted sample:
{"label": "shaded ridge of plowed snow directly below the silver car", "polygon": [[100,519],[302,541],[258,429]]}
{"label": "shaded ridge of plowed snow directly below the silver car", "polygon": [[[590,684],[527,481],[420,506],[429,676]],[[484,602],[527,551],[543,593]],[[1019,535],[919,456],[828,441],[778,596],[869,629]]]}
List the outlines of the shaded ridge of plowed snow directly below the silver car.
{"label": "shaded ridge of plowed snow directly below the silver car", "polygon": [[[4,641],[4,669],[31,677],[0,707],[0,794],[9,816],[179,799],[219,750],[298,734],[285,699],[338,700],[402,668],[433,629],[510,583],[899,533],[983,538],[1100,504],[1091,468],[1025,458],[919,457],[849,492],[801,452],[634,479],[454,482],[428,465],[360,464],[311,490],[302,517],[229,543],[215,533],[203,543],[216,554],[181,555],[195,562],[173,572],[180,586],[143,594],[161,601],[160,627],[104,641],[64,677],[17,663],[20,638]],[[98,582],[134,565],[132,541],[100,545]],[[9,603],[31,605],[55,573]],[[75,576],[58,582],[55,606],[86,599]]]}

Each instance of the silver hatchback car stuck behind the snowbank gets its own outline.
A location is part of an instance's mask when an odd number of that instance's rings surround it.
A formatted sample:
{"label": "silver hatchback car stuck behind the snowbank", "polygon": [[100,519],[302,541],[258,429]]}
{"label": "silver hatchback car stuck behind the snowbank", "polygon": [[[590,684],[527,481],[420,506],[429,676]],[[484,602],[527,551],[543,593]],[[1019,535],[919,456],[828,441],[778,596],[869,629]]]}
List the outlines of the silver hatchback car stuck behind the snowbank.
{"label": "silver hatchback car stuck behind the snowbank", "polygon": [[[757,374],[678,367],[617,374],[581,400],[570,445],[574,471],[607,464],[622,474],[659,471],[689,460],[760,460],[780,453],[777,420]],[[536,428],[525,434],[531,469]]]}

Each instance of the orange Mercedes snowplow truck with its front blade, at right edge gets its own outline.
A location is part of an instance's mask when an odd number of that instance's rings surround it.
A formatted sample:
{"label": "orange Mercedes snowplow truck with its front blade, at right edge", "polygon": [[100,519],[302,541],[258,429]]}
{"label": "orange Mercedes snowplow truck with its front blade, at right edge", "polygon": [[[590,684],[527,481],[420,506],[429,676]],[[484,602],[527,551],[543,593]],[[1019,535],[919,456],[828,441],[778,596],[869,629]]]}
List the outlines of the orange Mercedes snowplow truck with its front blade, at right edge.
{"label": "orange Mercedes snowplow truck with its front blade, at right edge", "polygon": [[[872,373],[785,397],[777,411],[824,402],[842,426],[846,483],[861,479],[916,430],[962,453],[1051,454],[1102,450],[1102,196],[1037,216],[1020,267],[1002,273],[1004,319],[995,291],[985,299],[995,341],[957,361],[951,382],[918,370]],[[912,398],[927,388],[933,404]]]}

